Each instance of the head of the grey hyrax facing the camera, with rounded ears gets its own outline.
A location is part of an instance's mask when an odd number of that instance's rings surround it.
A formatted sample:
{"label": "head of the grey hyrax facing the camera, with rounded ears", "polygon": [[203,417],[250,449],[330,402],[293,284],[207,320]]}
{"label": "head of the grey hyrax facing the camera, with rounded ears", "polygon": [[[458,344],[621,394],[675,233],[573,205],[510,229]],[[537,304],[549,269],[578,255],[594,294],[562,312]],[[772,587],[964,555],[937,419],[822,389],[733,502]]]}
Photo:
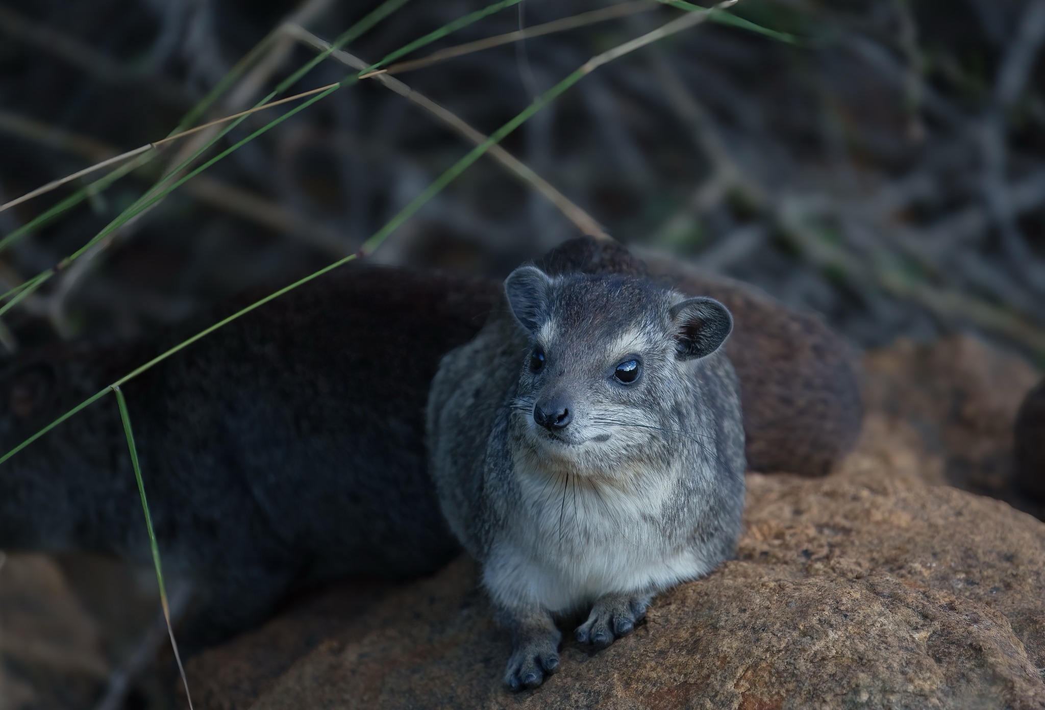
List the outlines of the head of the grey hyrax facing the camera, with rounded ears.
{"label": "head of the grey hyrax facing the camera, with rounded ears", "polygon": [[530,455],[608,473],[686,437],[695,362],[733,329],[725,306],[634,277],[534,266],[515,269],[505,293],[530,337],[511,420]]}

